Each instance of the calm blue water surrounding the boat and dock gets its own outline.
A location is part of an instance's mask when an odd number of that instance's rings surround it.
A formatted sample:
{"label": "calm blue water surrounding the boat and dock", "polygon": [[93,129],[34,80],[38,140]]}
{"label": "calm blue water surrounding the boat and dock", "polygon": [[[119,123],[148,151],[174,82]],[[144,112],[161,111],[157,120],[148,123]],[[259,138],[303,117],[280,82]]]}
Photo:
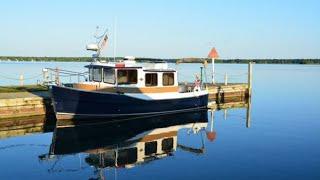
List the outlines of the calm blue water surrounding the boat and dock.
{"label": "calm blue water surrounding the boat and dock", "polygon": [[[0,75],[31,77],[56,66],[85,71],[81,63],[1,62]],[[199,72],[194,64],[178,68],[183,81]],[[246,68],[218,64],[218,78]],[[254,65],[250,128],[239,108],[215,111],[213,124],[203,112],[3,138],[0,179],[320,179],[319,78],[320,66]],[[15,83],[0,77],[0,85]],[[141,142],[155,140],[165,151],[145,156]],[[141,156],[123,151],[134,147]]]}

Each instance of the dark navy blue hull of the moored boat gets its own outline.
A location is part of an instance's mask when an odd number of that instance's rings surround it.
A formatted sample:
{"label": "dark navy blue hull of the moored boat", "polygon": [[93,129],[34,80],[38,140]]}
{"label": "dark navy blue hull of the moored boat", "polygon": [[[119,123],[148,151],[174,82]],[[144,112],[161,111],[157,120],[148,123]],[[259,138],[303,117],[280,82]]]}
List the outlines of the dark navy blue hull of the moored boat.
{"label": "dark navy blue hull of the moored boat", "polygon": [[208,95],[167,100],[142,100],[125,94],[82,91],[52,86],[57,119],[124,117],[206,108]]}

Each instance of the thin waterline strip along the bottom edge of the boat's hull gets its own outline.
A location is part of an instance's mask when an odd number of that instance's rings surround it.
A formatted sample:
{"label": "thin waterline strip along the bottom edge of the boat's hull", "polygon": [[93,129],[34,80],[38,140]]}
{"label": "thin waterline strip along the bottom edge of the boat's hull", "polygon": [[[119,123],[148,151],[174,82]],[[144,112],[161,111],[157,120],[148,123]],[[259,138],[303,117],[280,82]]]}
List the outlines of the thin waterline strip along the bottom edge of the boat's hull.
{"label": "thin waterline strip along the bottom edge of the boat's hull", "polygon": [[163,114],[174,114],[181,112],[190,112],[207,109],[207,106],[195,107],[189,109],[180,109],[172,111],[160,111],[160,112],[148,112],[148,113],[132,113],[132,114],[74,114],[74,113],[63,113],[56,112],[57,120],[72,120],[72,119],[94,119],[94,118],[116,118],[116,117],[135,117],[135,116],[147,116],[147,115],[163,115]]}

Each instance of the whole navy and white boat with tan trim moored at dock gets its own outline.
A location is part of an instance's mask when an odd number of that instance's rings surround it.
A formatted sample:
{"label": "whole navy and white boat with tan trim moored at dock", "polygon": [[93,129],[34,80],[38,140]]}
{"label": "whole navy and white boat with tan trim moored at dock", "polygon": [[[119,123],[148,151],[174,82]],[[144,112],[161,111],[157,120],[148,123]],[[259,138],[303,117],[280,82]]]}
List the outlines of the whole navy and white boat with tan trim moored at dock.
{"label": "whole navy and white boat with tan trim moored at dock", "polygon": [[195,83],[178,85],[178,73],[165,62],[138,64],[134,57],[100,62],[101,46],[87,65],[88,81],[53,85],[52,100],[58,120],[128,117],[177,113],[207,108],[208,91]]}

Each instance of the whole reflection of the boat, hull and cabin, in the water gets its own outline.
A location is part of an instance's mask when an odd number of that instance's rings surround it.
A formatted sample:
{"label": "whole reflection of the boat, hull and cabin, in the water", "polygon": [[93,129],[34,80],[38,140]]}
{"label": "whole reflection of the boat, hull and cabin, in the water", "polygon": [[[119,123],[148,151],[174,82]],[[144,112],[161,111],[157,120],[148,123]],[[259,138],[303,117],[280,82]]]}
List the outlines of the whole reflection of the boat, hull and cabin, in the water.
{"label": "whole reflection of the boat, hull and cabin, in the water", "polygon": [[162,159],[173,155],[177,147],[203,153],[203,146],[197,149],[178,145],[177,135],[178,130],[184,128],[188,129],[188,133],[205,133],[208,111],[122,119],[108,123],[86,122],[88,121],[77,122],[78,124],[59,122],[49,154],[39,158],[48,160],[84,152],[88,153],[85,162],[98,172],[107,167],[131,168]]}

